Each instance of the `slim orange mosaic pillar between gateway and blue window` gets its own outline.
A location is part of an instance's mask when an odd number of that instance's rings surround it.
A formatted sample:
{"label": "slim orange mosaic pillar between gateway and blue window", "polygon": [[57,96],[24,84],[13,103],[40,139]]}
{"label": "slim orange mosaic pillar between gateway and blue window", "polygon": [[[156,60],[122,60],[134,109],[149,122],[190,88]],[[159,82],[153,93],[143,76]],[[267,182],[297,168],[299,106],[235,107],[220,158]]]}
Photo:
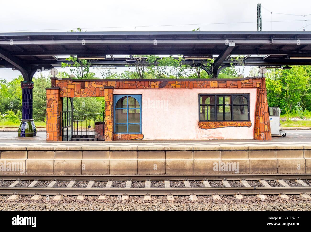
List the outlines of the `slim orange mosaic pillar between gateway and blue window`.
{"label": "slim orange mosaic pillar between gateway and blue window", "polygon": [[114,106],[113,87],[105,86],[105,141],[113,141],[114,135]]}

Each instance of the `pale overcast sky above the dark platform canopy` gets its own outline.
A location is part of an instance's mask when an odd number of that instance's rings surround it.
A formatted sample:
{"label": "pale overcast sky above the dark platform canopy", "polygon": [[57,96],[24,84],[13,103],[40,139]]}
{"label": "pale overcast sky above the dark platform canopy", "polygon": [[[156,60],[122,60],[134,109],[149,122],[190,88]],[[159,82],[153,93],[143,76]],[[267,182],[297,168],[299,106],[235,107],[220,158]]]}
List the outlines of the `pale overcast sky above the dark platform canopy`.
{"label": "pale overcast sky above the dark platform canopy", "polygon": [[[1,1],[0,32],[68,31],[77,27],[87,31],[189,31],[198,27],[201,31],[257,30],[257,3],[262,4],[263,30],[301,31],[304,25],[305,30],[311,30],[310,0],[11,0]],[[182,24],[187,25],[177,26]],[[19,74],[0,70],[0,78],[7,80]]]}

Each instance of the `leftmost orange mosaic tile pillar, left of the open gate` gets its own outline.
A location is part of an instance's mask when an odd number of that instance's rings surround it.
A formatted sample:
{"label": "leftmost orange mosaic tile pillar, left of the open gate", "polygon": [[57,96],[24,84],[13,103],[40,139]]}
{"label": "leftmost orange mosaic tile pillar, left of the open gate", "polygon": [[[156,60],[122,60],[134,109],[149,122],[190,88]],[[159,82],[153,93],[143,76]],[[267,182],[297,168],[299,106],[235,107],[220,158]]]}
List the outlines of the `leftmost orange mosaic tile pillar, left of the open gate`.
{"label": "leftmost orange mosaic tile pillar, left of the open gate", "polygon": [[61,141],[60,112],[62,101],[59,87],[46,89],[46,141]]}

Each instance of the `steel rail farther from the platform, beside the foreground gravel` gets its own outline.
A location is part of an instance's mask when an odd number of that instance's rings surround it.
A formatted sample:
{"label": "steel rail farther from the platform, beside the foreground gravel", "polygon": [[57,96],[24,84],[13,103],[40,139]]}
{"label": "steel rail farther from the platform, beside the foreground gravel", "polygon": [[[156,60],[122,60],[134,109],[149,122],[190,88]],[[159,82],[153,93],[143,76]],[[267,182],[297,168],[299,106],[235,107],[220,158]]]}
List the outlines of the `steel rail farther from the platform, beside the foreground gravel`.
{"label": "steel rail farther from the platform, beside the foreground gravel", "polygon": [[252,188],[0,188],[0,195],[256,195],[311,193],[311,187]]}

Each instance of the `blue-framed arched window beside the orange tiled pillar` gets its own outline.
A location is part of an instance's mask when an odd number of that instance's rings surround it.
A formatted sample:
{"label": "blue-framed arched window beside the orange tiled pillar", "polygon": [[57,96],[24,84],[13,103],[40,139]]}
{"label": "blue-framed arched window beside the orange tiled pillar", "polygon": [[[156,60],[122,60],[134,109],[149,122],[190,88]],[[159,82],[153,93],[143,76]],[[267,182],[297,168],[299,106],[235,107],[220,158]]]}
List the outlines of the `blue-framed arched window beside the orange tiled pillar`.
{"label": "blue-framed arched window beside the orange tiled pillar", "polygon": [[142,95],[114,95],[114,133],[142,133]]}

